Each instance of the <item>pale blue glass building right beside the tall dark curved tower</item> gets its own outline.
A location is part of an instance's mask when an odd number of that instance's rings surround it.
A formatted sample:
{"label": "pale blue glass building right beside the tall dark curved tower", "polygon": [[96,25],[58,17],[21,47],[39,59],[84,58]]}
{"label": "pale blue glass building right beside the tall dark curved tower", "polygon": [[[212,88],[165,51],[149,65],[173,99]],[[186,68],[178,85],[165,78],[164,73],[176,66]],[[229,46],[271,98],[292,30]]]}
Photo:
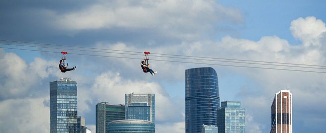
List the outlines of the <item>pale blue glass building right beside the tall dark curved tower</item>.
{"label": "pale blue glass building right beside the tall dark curved tower", "polygon": [[217,116],[218,133],[245,133],[245,109],[239,101],[222,101]]}

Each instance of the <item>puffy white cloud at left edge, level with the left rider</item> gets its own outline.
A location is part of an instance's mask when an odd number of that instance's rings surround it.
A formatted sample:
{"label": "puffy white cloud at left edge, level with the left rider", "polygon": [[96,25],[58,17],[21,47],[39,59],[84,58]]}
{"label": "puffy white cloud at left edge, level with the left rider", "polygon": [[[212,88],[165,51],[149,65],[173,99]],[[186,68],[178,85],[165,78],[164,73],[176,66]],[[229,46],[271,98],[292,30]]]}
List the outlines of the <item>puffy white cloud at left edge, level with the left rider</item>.
{"label": "puffy white cloud at left edge, level with the left rider", "polygon": [[[0,51],[0,99],[21,98],[43,89],[39,81],[49,75],[59,75],[59,70],[53,61],[40,58],[27,64],[25,60],[14,53]],[[37,87],[36,87],[37,86]]]}

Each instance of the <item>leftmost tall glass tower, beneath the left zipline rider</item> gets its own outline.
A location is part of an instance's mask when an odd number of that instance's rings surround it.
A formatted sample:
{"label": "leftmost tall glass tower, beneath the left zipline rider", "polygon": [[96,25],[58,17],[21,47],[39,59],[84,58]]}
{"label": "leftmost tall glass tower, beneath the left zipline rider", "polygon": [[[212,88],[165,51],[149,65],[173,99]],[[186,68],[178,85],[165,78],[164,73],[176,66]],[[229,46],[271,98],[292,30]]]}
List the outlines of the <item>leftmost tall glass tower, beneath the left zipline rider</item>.
{"label": "leftmost tall glass tower, beneath the left zipline rider", "polygon": [[50,82],[50,133],[77,133],[77,82]]}

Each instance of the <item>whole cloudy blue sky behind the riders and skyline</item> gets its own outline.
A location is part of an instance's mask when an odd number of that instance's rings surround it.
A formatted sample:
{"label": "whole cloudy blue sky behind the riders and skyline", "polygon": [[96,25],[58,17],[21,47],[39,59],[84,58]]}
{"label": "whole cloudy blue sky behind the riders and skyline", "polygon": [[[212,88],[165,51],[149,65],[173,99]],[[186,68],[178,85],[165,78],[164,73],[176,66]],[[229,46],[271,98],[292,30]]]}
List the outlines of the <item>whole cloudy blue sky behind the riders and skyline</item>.
{"label": "whole cloudy blue sky behind the riders and skyline", "polygon": [[[155,93],[156,133],[184,133],[185,69],[213,67],[220,100],[241,101],[245,108],[246,133],[270,131],[271,104],[275,93],[283,89],[293,94],[293,132],[323,133],[325,67],[263,66],[151,55],[326,66],[325,5],[325,0],[1,0],[1,132],[49,133],[49,82],[67,77],[78,83],[78,116],[86,118],[92,133],[96,128],[95,105],[105,101],[124,104],[124,94],[131,92]],[[141,55],[74,51],[67,48],[77,48],[68,46],[149,51],[150,67],[158,73],[152,76],[139,69]],[[68,52],[67,63],[77,66],[76,70],[60,72],[61,51]]]}

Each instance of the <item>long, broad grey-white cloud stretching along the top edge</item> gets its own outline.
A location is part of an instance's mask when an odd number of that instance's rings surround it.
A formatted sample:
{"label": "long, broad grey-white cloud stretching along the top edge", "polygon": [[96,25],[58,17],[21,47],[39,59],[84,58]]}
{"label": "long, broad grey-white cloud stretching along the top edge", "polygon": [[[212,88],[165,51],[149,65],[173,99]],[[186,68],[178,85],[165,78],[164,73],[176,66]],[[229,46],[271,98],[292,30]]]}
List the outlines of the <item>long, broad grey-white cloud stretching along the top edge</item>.
{"label": "long, broad grey-white cloud stretching along the top edge", "polygon": [[212,23],[244,23],[239,9],[223,7],[213,0],[99,1],[80,10],[51,15],[57,28],[152,29],[173,38],[198,38]]}

